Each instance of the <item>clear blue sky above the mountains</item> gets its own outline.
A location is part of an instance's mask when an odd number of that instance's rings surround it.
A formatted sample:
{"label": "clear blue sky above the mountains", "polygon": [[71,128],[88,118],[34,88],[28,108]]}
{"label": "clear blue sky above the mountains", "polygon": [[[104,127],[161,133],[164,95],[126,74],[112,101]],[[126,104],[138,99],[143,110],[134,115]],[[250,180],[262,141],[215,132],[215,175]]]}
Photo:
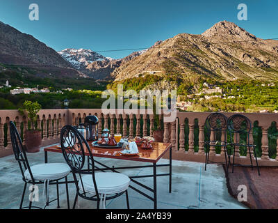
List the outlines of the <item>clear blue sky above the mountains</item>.
{"label": "clear blue sky above the mountains", "polygon": [[[39,21],[28,9],[38,3]],[[247,21],[239,21],[239,3]],[[235,22],[259,38],[278,38],[277,0],[0,0],[0,21],[49,47],[93,51],[150,47],[178,33],[200,34],[216,22]],[[133,51],[102,52],[122,58]]]}

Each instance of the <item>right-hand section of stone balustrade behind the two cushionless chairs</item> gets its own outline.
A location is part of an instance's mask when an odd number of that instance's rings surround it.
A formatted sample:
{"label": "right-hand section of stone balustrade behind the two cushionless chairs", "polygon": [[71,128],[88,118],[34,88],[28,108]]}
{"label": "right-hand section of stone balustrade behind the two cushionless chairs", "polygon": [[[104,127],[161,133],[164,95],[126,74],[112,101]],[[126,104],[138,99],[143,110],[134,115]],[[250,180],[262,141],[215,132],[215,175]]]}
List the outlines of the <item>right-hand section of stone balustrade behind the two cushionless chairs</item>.
{"label": "right-hand section of stone balustrade behind the two cushionless chairs", "polygon": [[[173,159],[204,162],[204,141],[208,140],[208,138],[205,139],[206,134],[204,130],[206,117],[209,114],[211,114],[211,112],[178,112],[177,120],[174,123],[164,123],[164,141],[173,144]],[[224,112],[223,114],[229,118],[229,116],[235,113]],[[277,127],[278,114],[243,113],[243,115],[247,116],[252,123],[250,144],[256,145],[256,154],[259,156],[259,164],[264,166],[277,166],[277,134],[270,135],[268,130],[270,129],[270,126],[275,125],[275,128]],[[256,135],[254,135],[254,123],[257,124]],[[221,140],[224,141],[225,131],[220,132],[220,134]],[[214,140],[213,137],[214,134],[211,134],[210,139]],[[275,143],[272,143],[272,148],[270,148],[269,141],[270,138],[273,137],[275,137]],[[234,139],[236,139],[236,137],[234,137]],[[254,139],[256,139],[256,141]],[[217,146],[211,146],[210,148],[210,160],[213,162],[224,162],[224,148],[218,148],[218,153],[216,153],[215,147]],[[244,155],[243,153],[246,154]],[[243,149],[241,149],[240,151],[240,148],[236,146],[235,160],[237,163],[250,164],[250,155],[252,159],[254,159],[252,148],[250,154],[247,150],[244,152]]]}

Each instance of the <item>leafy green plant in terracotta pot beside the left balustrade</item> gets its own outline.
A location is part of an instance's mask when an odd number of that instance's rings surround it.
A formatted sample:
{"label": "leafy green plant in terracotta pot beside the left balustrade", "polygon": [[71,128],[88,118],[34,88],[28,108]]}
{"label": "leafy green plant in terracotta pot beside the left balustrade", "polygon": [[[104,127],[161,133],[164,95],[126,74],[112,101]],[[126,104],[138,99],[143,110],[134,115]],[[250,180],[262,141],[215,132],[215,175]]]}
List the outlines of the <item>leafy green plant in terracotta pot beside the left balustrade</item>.
{"label": "leafy green plant in terracotta pot beside the left balustrade", "polygon": [[30,128],[28,128],[24,134],[25,146],[28,153],[36,153],[40,151],[40,145],[42,144],[42,132],[40,126],[35,128],[35,122],[37,121],[37,114],[42,106],[38,102],[31,102],[26,100],[23,104],[23,108],[19,108],[21,114],[26,114],[28,121],[30,122]]}

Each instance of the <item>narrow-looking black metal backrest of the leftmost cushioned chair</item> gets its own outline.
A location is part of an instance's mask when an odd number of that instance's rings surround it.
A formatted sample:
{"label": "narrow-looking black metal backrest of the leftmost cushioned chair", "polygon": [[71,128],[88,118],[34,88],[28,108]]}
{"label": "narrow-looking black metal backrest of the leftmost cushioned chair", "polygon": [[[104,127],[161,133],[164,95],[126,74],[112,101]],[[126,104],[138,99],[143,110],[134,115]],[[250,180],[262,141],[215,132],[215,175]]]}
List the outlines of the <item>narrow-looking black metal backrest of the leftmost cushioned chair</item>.
{"label": "narrow-looking black metal backrest of the leftmost cushioned chair", "polygon": [[15,123],[13,123],[13,121],[10,121],[9,124],[10,124],[10,141],[13,146],[13,153],[15,154],[15,160],[17,160],[20,171],[22,172],[22,178],[25,179],[24,172],[26,171],[26,169],[28,169],[31,176],[31,180],[34,182],[35,180],[33,178],[33,174],[30,165],[28,163],[26,153],[24,151],[22,139],[19,133],[17,132]]}

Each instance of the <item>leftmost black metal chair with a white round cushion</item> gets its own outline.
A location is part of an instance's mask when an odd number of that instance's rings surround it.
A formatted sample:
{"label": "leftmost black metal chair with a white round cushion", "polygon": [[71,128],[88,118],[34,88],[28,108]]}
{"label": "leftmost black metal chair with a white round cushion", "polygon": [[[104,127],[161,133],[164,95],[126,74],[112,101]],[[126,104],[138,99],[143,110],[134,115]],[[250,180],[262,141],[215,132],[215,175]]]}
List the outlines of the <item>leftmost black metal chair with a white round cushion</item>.
{"label": "leftmost black metal chair with a white round cushion", "polygon": [[[45,164],[36,164],[30,167],[26,153],[24,151],[24,147],[22,145],[22,139],[20,138],[19,133],[17,132],[17,128],[15,127],[13,121],[10,121],[10,139],[13,146],[13,153],[15,154],[15,160],[17,160],[19,164],[19,168],[22,173],[22,180],[24,181],[24,190],[22,193],[22,199],[20,201],[19,209],[40,208],[37,206],[32,206],[32,200],[29,201],[28,207],[27,206],[22,207],[26,186],[28,183],[31,185],[44,184],[44,191],[46,192],[46,205],[44,206],[44,208],[49,206],[49,203],[56,200],[58,202],[58,208],[60,208],[58,185],[61,183],[65,183],[66,193],[67,193],[67,207],[70,208],[69,194],[68,194],[68,187],[67,187],[67,175],[70,174],[70,168],[67,166],[67,164],[45,163]],[[59,182],[59,180],[63,178],[65,178],[65,182]],[[57,199],[49,201],[48,185],[56,185]],[[33,190],[35,190],[34,187]]]}

